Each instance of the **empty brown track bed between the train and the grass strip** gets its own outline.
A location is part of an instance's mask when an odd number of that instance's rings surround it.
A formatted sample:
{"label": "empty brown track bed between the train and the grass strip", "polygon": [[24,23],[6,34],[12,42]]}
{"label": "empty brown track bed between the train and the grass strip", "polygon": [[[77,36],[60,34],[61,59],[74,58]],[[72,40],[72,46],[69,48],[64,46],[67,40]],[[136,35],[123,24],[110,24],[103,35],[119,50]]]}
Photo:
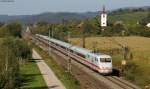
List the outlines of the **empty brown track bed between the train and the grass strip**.
{"label": "empty brown track bed between the train and the grass strip", "polygon": [[[45,48],[43,46],[40,46],[40,48],[44,49],[45,51],[48,51],[48,48]],[[62,54],[59,51],[53,50],[51,52],[52,57],[55,59],[55,61],[62,66],[63,68],[67,69],[67,56]],[[60,60],[61,58],[61,60]],[[87,74],[84,70],[82,70],[81,67],[78,67],[74,65],[74,62],[72,62],[72,74],[75,76],[75,78],[80,81],[81,89],[110,89],[108,86],[105,86],[105,84],[101,83],[97,79],[91,77],[89,74]]]}

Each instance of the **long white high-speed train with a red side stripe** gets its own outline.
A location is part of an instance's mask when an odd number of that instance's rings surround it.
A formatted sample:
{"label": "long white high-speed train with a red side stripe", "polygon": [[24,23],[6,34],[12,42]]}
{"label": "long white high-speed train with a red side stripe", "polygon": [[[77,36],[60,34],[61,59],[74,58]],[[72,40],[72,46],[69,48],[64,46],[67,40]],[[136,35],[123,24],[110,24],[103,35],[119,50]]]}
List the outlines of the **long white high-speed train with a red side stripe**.
{"label": "long white high-speed train with a red side stripe", "polygon": [[53,45],[53,47],[56,46],[55,49],[60,47],[63,51],[59,50],[60,48],[58,50],[66,54],[67,52],[65,51],[68,51],[69,49],[70,52],[76,56],[76,58],[74,58],[75,60],[92,68],[95,71],[98,71],[100,74],[112,73],[112,58],[109,55],[103,53],[93,53],[92,50],[74,46],[72,44],[39,34],[36,34],[36,39],[44,42],[47,45],[49,45],[50,42],[50,45]]}

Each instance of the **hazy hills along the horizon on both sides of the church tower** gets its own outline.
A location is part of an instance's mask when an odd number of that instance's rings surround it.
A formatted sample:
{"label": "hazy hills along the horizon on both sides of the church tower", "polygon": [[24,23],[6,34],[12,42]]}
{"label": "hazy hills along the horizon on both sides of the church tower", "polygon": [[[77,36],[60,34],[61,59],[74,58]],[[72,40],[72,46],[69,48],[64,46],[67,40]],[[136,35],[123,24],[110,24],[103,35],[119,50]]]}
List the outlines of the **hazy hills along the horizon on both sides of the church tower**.
{"label": "hazy hills along the horizon on both sides of the church tower", "polygon": [[[128,23],[138,22],[142,17],[146,16],[150,12],[150,7],[127,7],[120,8],[112,11],[108,11],[109,20],[111,21],[124,21]],[[38,15],[0,15],[0,22],[13,22],[19,21],[21,23],[30,24],[39,21],[45,21],[48,23],[60,23],[62,20],[84,20],[87,18],[93,18],[99,15],[100,12],[85,12],[85,13],[69,13],[69,12],[58,12],[58,13],[41,13]],[[128,24],[130,24],[128,23]]]}

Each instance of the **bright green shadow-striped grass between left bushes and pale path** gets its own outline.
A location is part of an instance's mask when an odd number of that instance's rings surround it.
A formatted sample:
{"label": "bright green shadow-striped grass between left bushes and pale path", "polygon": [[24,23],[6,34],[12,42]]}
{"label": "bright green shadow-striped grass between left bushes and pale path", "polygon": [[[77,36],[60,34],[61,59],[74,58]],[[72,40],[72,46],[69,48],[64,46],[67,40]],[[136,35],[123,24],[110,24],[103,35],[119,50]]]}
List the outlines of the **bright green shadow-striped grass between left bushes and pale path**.
{"label": "bright green shadow-striped grass between left bushes and pale path", "polygon": [[33,60],[22,64],[20,70],[22,76],[21,89],[47,89],[38,66]]}

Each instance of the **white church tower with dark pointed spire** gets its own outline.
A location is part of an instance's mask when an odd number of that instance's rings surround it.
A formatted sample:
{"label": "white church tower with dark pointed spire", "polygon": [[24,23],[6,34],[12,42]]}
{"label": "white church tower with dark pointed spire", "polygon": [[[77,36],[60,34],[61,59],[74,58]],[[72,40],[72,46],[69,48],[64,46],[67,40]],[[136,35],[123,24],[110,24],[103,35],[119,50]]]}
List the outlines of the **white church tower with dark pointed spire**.
{"label": "white church tower with dark pointed spire", "polygon": [[105,6],[103,6],[103,11],[101,13],[101,27],[107,26],[107,13],[105,11]]}

